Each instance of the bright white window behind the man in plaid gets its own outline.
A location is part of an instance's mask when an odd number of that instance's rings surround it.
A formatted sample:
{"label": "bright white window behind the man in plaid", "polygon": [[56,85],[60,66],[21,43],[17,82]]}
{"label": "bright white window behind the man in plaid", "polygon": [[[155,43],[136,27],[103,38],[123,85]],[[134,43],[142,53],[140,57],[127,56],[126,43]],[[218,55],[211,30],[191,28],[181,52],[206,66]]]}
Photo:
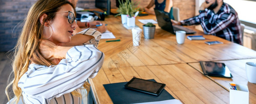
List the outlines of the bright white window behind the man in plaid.
{"label": "bright white window behind the man in plaid", "polygon": [[256,0],[223,0],[233,7],[242,24],[256,28]]}

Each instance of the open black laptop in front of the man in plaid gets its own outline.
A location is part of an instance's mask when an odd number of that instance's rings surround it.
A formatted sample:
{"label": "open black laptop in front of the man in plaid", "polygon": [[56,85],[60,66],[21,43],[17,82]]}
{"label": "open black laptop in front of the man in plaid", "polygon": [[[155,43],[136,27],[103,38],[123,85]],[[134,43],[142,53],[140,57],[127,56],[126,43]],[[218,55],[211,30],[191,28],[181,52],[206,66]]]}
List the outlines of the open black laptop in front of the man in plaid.
{"label": "open black laptop in front of the man in plaid", "polygon": [[169,13],[161,10],[155,10],[156,19],[159,27],[164,29],[165,31],[168,31],[172,34],[175,34],[176,31],[185,31],[186,34],[194,34],[195,31],[185,28],[180,25],[172,25],[171,19],[169,17]]}

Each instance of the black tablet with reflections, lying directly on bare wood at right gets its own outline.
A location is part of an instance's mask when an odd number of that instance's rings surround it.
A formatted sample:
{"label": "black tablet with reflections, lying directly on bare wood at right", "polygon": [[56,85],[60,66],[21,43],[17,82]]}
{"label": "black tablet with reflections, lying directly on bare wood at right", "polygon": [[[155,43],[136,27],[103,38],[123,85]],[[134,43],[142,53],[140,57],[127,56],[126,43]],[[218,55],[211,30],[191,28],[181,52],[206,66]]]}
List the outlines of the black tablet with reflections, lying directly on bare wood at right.
{"label": "black tablet with reflections, lying directly on bare wood at right", "polygon": [[232,78],[231,72],[224,63],[200,61],[202,71],[205,75]]}

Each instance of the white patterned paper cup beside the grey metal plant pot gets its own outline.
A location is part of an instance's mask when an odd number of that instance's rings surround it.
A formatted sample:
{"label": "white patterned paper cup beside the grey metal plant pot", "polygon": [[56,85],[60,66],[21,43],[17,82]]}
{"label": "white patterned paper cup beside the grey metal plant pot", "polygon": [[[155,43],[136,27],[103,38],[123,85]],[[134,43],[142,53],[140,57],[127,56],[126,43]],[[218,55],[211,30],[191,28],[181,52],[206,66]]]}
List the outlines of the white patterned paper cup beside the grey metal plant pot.
{"label": "white patterned paper cup beside the grey metal plant pot", "polygon": [[133,33],[133,46],[140,45],[142,29],[134,27],[133,29],[131,29],[131,32]]}

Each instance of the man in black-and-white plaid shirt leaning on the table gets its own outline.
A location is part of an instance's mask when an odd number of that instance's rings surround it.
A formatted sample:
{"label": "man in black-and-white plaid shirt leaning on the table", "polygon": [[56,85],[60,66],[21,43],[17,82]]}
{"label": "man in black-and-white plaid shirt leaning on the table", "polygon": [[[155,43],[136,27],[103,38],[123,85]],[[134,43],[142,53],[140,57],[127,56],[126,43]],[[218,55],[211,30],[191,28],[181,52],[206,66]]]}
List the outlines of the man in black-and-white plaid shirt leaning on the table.
{"label": "man in black-and-white plaid shirt leaning on the table", "polygon": [[201,24],[205,34],[212,34],[242,45],[242,30],[236,11],[223,0],[206,0],[199,15],[182,20],[172,20],[173,25]]}

